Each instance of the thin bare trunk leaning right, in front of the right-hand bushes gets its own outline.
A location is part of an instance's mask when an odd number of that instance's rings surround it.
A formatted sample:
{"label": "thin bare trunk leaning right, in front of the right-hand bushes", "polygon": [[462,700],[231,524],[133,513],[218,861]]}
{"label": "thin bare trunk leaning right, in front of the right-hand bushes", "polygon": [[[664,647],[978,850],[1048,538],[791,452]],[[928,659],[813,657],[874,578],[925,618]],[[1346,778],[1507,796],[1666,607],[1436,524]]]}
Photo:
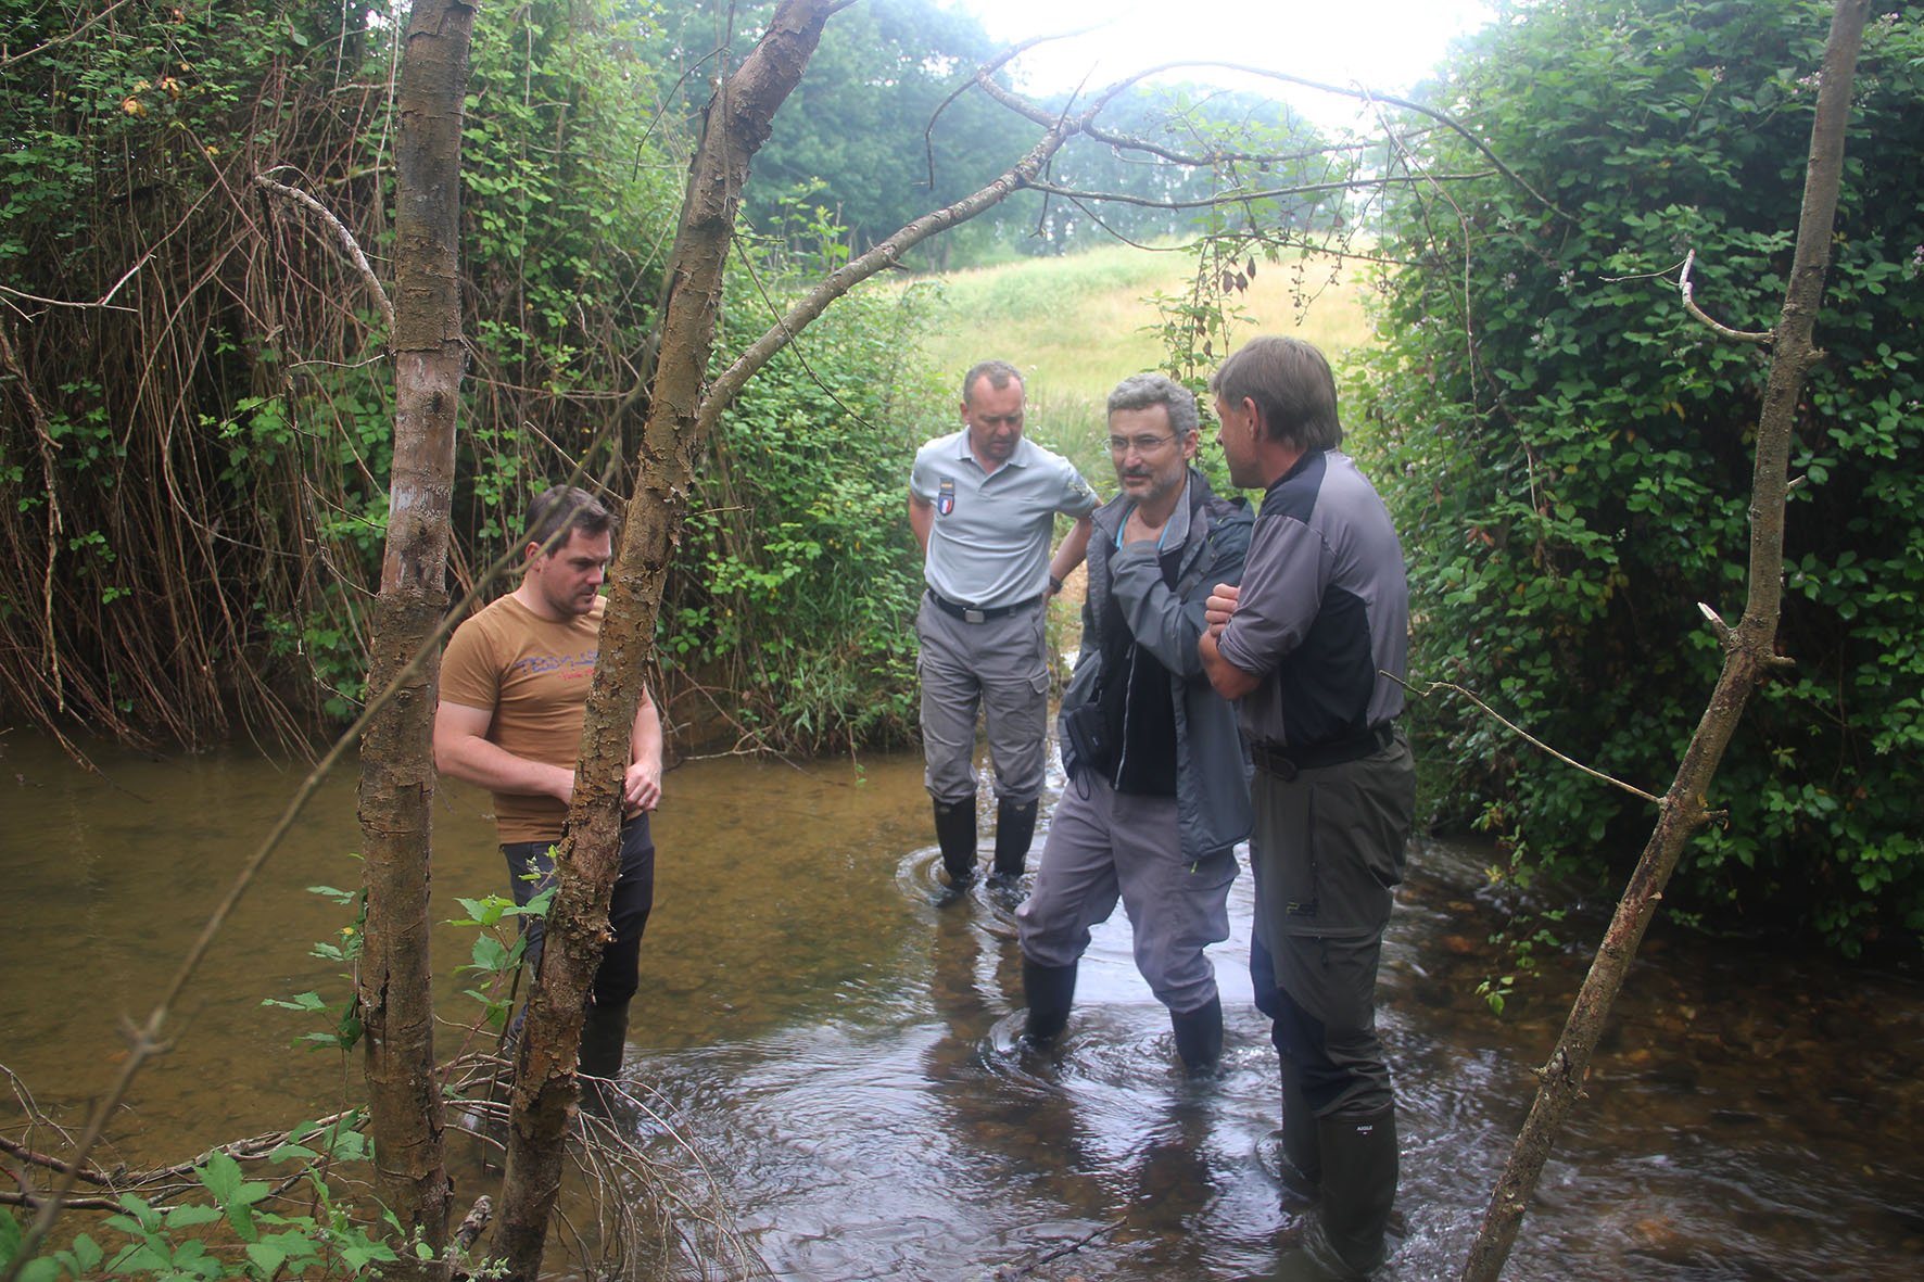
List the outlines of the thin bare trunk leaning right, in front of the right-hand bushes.
{"label": "thin bare trunk leaning right, in front of the right-hand bushes", "polygon": [[[1787,660],[1776,656],[1778,608],[1784,572],[1784,499],[1789,491],[1789,441],[1795,427],[1797,393],[1810,366],[1822,356],[1810,335],[1816,310],[1824,296],[1824,273],[1830,268],[1830,237],[1837,212],[1837,183],[1843,169],[1843,135],[1851,110],[1851,83],[1857,79],[1857,50],[1864,35],[1868,0],[1839,0],[1824,50],[1824,71],[1816,100],[1816,121],[1810,127],[1810,166],[1805,177],[1803,212],[1797,221],[1797,254],[1791,264],[1789,287],[1784,293],[1784,314],[1774,337],[1770,381],[1757,423],[1757,464],[1751,481],[1751,591],[1743,618],[1730,629],[1703,606],[1724,643],[1724,672],[1710,703],[1705,706],[1697,733],[1684,751],[1670,791],[1664,793],[1657,828],[1637,860],[1637,870],[1616,905],[1616,916],[1603,936],[1589,976],[1570,1007],[1562,1038],[1541,1070],[1535,1105],[1516,1136],[1510,1163],[1505,1167],[1483,1226],[1464,1261],[1466,1282],[1487,1282],[1503,1272],[1516,1244],[1524,1207],[1535,1192],[1551,1143],[1570,1115],[1589,1078],[1591,1059],[1610,1014],[1610,1003],[1630,962],[1637,955],[1643,932],[1657,912],[1664,885],[1676,870],[1678,857],[1691,833],[1709,822],[1705,795],[1716,776],[1730,735],[1743,716],[1751,691],[1772,668]],[[1689,295],[1685,291],[1685,302]]]}

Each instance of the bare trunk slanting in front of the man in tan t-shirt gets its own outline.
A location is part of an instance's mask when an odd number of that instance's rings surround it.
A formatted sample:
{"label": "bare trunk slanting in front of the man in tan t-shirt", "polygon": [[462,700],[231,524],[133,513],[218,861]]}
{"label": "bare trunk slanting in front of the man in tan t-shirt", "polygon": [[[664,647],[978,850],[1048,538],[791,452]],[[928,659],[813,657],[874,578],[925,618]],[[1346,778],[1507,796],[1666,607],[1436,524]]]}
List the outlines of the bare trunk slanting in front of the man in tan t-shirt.
{"label": "bare trunk slanting in front of the man in tan t-shirt", "polygon": [[581,764],[556,859],[558,885],[529,999],[516,1072],[498,1244],[510,1278],[535,1278],[562,1182],[562,1143],[575,1101],[581,1003],[608,937],[618,872],[621,774],[654,649],[662,579],[681,533],[700,447],[702,379],[714,348],[722,266],[748,160],[800,81],[833,0],[785,0],[743,65],[708,104],[670,260],[660,358],[643,427],[641,487],[627,506],[608,587],[600,658],[581,735]]}

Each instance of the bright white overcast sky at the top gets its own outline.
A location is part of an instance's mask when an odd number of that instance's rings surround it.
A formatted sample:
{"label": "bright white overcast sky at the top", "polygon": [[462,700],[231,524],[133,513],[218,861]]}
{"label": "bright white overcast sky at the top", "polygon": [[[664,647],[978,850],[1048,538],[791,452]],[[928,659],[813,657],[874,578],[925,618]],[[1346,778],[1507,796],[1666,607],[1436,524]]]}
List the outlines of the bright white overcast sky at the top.
{"label": "bright white overcast sky at the top", "polygon": [[[1406,92],[1443,58],[1451,37],[1491,17],[1487,0],[947,0],[1014,44],[1104,23],[1029,50],[1016,64],[1031,92],[1108,85],[1164,62],[1262,65],[1304,79]],[[1318,117],[1310,98],[1291,98]]]}

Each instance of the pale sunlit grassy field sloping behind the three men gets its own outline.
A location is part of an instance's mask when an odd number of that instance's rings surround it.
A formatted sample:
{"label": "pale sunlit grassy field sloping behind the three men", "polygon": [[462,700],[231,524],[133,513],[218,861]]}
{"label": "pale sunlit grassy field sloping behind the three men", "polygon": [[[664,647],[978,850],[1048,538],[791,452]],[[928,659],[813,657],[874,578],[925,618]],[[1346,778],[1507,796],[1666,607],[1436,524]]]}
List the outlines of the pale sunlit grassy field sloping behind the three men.
{"label": "pale sunlit grassy field sloping behind the three men", "polygon": [[[1095,441],[1108,391],[1160,366],[1154,298],[1187,293],[1193,264],[1187,254],[1110,244],[937,277],[924,356],[954,383],[977,360],[1014,362],[1027,375],[1029,435],[1101,475],[1093,468],[1106,472],[1108,454]],[[1360,268],[1333,260],[1258,262],[1231,348],[1256,333],[1293,333],[1341,366],[1343,352],[1370,341],[1362,289]]]}

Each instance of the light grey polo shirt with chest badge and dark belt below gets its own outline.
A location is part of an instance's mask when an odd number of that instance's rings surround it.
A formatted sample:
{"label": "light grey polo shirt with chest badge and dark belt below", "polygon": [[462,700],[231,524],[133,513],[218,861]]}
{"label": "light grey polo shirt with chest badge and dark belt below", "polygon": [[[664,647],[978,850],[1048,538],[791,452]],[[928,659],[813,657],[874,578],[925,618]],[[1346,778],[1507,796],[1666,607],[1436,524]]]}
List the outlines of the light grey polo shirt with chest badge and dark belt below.
{"label": "light grey polo shirt with chest badge and dark belt below", "polygon": [[935,508],[922,568],[929,589],[981,610],[1041,595],[1056,512],[1089,516],[1099,502],[1076,464],[1027,437],[985,474],[966,427],[916,450],[908,489]]}

